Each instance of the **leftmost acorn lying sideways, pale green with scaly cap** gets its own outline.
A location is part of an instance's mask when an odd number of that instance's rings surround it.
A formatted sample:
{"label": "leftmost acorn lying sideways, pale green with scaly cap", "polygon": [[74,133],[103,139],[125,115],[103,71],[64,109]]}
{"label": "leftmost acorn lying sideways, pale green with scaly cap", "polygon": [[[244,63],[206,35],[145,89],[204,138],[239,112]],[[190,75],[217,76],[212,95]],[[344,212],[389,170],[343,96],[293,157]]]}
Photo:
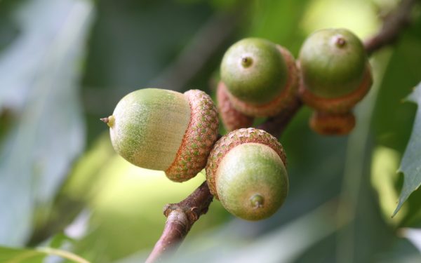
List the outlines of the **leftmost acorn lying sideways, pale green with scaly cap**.
{"label": "leftmost acorn lying sideways, pale green with scaly cap", "polygon": [[163,170],[175,182],[189,180],[206,166],[218,137],[215,104],[201,90],[135,90],[102,121],[119,155],[135,166]]}

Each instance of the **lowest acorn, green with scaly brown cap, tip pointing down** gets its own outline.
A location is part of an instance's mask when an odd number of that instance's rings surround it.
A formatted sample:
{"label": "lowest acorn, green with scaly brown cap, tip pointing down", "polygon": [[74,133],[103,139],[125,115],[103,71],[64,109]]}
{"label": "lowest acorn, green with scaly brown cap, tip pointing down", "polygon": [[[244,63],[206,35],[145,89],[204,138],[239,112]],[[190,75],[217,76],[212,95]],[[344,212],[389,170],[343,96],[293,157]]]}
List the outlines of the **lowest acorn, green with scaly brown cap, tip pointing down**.
{"label": "lowest acorn, green with scaly brown cap, tip pointing down", "polygon": [[206,180],[210,193],[229,213],[262,220],[273,215],[288,194],[286,155],[264,130],[234,130],[210,151]]}

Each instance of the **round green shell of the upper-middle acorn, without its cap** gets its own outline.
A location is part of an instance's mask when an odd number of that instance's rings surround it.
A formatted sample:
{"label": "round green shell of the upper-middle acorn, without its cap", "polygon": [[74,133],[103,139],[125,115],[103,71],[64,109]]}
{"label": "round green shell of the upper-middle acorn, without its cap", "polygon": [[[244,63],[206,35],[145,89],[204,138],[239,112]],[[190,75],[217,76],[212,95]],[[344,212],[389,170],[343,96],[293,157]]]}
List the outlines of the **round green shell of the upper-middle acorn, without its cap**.
{"label": "round green shell of the upper-middle acorn, without its cap", "polygon": [[281,94],[288,69],[277,46],[265,39],[242,39],[222,58],[221,79],[234,97],[265,104]]}

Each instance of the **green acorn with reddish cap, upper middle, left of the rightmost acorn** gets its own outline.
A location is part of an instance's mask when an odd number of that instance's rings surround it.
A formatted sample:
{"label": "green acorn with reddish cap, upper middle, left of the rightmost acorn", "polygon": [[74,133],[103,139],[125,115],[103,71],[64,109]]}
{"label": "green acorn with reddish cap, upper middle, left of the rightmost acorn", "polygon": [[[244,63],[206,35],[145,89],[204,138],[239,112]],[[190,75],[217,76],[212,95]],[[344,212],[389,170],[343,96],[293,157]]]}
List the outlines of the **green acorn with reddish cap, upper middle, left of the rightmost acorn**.
{"label": "green acorn with reddish cap, upper middle, left of the rightmost acorn", "polygon": [[295,99],[293,55],[271,41],[248,38],[232,45],[221,63],[221,81],[235,109],[247,116],[275,116]]}

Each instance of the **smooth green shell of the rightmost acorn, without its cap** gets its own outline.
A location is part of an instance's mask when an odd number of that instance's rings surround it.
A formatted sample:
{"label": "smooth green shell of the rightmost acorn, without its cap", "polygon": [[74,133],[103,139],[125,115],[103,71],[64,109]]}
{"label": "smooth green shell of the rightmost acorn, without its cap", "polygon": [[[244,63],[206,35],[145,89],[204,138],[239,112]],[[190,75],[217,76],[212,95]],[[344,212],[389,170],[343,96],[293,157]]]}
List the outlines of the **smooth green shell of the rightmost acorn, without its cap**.
{"label": "smooth green shell of the rightmost acorn, without its cap", "polygon": [[360,39],[347,29],[322,29],[303,43],[302,81],[314,95],[342,97],[359,88],[368,59]]}

